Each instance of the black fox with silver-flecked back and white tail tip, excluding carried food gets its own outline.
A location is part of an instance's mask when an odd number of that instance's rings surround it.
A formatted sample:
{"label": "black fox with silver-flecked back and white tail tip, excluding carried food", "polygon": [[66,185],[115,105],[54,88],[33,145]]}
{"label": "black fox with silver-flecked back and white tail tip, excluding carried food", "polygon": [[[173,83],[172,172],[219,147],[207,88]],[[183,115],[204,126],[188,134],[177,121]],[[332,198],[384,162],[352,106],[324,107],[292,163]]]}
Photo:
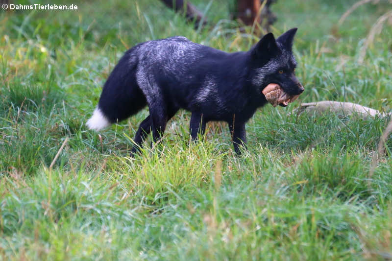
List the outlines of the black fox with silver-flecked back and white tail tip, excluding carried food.
{"label": "black fox with silver-flecked back and white tail tip, excluding carried food", "polygon": [[175,36],[148,41],[125,52],[107,79],[90,129],[99,130],[136,114],[148,105],[149,116],[136,133],[132,152],[152,131],[160,139],[179,109],[192,112],[192,139],[211,120],[226,121],[234,149],[245,145],[245,123],[267,103],[262,90],[279,84],[288,94],[304,88],[294,75],[293,28],[275,40],[265,35],[249,51],[227,53]]}

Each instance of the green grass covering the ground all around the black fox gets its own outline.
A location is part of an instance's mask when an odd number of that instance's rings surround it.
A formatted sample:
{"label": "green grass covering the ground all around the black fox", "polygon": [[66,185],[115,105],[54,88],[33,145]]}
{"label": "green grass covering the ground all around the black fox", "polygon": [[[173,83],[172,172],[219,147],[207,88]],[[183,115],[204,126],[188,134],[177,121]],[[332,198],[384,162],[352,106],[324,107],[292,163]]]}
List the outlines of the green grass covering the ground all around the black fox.
{"label": "green grass covering the ground all around the black fox", "polygon": [[[184,111],[135,159],[127,157],[131,138],[147,110],[100,133],[87,130],[127,48],[173,35],[225,51],[257,41],[228,20],[232,2],[193,2],[208,15],[205,29],[156,0],[1,11],[0,260],[391,259],[392,139],[369,174],[389,119],[297,116],[299,102],[267,105],[247,124],[242,157],[225,123],[208,124],[200,142],[189,142]],[[272,31],[299,28],[299,101],[390,112],[389,24],[364,63],[357,60],[392,5],[362,6],[337,27],[354,2],[279,0]]]}

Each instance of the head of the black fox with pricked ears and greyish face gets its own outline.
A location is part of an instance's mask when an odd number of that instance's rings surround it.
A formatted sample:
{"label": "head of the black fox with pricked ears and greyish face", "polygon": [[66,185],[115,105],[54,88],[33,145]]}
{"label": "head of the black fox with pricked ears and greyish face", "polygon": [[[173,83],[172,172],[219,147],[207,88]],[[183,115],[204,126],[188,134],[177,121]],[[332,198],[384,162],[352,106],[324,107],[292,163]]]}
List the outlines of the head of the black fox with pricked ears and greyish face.
{"label": "head of the black fox with pricked ears and greyish face", "polygon": [[299,95],[305,89],[295,77],[297,65],[293,55],[293,39],[297,28],[282,34],[275,40],[266,34],[251,50],[251,81],[261,91],[270,83],[279,84],[289,95]]}

